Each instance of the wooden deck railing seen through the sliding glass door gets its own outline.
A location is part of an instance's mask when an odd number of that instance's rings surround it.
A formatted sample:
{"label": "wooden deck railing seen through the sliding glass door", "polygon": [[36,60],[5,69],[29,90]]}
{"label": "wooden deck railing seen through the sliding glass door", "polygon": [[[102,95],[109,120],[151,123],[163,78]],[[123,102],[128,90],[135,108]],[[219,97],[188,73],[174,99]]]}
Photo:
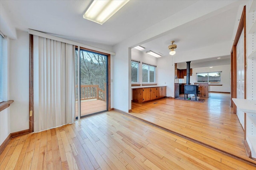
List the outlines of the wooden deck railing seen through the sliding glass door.
{"label": "wooden deck railing seen through the sliding glass door", "polygon": [[[104,83],[106,89],[106,83]],[[77,90],[77,85],[76,85]],[[81,85],[80,86],[80,98],[81,100],[96,99],[106,101],[105,90],[102,90],[99,85]],[[78,96],[76,95],[76,100]]]}

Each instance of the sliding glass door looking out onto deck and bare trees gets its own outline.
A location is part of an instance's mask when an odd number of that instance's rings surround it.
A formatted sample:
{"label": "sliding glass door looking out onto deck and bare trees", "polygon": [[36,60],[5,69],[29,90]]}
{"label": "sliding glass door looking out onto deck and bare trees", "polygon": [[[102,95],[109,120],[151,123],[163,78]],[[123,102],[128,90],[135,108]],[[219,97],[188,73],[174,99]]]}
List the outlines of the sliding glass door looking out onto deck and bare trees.
{"label": "sliding glass door looking out onto deck and bare trees", "polygon": [[108,56],[80,49],[79,57],[76,49],[76,117],[107,111]]}

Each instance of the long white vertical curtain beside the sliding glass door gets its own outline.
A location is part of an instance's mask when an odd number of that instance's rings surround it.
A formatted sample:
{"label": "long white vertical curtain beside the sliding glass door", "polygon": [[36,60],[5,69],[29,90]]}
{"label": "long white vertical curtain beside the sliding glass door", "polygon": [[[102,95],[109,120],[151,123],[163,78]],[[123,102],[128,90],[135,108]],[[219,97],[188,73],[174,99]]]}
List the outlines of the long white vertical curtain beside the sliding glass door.
{"label": "long white vertical curtain beside the sliding glass door", "polygon": [[75,120],[74,47],[34,35],[34,131]]}

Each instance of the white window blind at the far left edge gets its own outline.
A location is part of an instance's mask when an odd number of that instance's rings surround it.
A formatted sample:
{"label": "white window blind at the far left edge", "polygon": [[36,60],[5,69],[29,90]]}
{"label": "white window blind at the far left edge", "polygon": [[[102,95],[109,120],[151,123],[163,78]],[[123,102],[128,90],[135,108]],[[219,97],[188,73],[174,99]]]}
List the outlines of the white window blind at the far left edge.
{"label": "white window blind at the far left edge", "polygon": [[7,40],[0,35],[0,102],[7,100]]}

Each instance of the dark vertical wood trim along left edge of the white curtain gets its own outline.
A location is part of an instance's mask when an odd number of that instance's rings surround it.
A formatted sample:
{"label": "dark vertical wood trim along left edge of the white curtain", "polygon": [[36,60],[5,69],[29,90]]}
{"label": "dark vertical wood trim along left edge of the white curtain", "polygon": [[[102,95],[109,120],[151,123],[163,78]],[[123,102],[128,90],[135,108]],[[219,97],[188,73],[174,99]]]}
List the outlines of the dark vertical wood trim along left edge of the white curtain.
{"label": "dark vertical wood trim along left edge of the white curtain", "polygon": [[[34,41],[33,35],[29,35],[29,111],[32,111],[32,116],[29,116],[29,133],[34,132]],[[30,113],[28,112],[28,115]]]}

